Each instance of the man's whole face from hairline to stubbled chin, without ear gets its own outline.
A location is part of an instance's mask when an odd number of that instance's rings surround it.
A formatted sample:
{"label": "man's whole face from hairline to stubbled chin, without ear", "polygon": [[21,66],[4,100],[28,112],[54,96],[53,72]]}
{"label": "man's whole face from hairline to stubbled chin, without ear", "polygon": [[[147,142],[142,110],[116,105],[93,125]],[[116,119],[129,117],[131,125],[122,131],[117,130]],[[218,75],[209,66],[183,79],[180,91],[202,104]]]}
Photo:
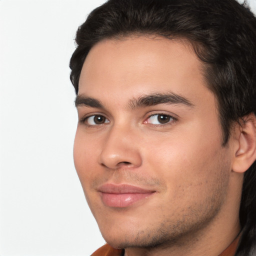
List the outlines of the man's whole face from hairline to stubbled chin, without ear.
{"label": "man's whole face from hairline to stubbled chin, without ear", "polygon": [[230,152],[188,42],[98,42],[83,64],[76,105],[75,168],[108,243],[157,246],[213,222]]}

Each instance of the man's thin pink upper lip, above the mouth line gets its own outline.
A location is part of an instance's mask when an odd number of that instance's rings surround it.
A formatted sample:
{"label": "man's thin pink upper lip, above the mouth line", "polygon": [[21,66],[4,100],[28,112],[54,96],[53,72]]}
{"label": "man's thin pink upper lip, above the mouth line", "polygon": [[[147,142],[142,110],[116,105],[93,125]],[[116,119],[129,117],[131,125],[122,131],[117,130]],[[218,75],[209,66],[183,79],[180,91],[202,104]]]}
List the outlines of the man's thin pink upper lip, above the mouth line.
{"label": "man's thin pink upper lip, above the mouth line", "polygon": [[112,193],[112,194],[124,194],[124,193],[152,193],[155,190],[145,189],[142,187],[129,185],[129,184],[110,184],[105,183],[98,187],[98,191],[103,193]]}

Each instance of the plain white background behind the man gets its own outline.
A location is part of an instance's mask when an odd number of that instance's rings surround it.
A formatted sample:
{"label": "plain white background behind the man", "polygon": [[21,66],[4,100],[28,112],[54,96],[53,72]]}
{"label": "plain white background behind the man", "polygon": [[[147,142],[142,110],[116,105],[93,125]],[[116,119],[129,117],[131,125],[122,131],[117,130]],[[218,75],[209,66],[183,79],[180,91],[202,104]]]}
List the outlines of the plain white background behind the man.
{"label": "plain white background behind the man", "polygon": [[86,256],[104,243],[73,166],[68,67],[78,25],[103,2],[0,0],[1,256]]}

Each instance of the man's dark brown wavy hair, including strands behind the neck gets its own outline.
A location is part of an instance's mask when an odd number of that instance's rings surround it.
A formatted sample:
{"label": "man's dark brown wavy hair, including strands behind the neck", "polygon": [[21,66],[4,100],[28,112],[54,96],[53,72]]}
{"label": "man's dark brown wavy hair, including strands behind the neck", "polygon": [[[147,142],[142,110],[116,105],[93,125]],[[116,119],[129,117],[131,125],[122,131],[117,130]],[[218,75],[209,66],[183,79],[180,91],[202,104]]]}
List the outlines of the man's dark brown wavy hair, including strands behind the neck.
{"label": "man's dark brown wavy hair, including strands behind the neck", "polygon": [[[105,38],[132,34],[190,41],[218,100],[223,146],[232,123],[256,113],[256,19],[246,4],[235,0],[108,0],[77,30],[77,47],[70,59],[76,93],[91,47]],[[243,235],[236,255],[254,255],[256,162],[244,174],[240,223]]]}

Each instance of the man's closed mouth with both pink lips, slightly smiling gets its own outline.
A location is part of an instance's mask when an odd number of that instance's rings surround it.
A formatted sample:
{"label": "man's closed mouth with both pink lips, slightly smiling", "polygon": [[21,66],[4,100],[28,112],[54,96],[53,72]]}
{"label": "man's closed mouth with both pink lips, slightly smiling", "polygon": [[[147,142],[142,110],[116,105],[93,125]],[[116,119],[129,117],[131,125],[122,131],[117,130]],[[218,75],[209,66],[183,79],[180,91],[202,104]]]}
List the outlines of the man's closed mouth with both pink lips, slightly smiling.
{"label": "man's closed mouth with both pink lips, slightly smiling", "polygon": [[144,189],[129,184],[106,183],[98,188],[101,200],[109,207],[127,207],[138,201],[146,200],[155,190]]}

